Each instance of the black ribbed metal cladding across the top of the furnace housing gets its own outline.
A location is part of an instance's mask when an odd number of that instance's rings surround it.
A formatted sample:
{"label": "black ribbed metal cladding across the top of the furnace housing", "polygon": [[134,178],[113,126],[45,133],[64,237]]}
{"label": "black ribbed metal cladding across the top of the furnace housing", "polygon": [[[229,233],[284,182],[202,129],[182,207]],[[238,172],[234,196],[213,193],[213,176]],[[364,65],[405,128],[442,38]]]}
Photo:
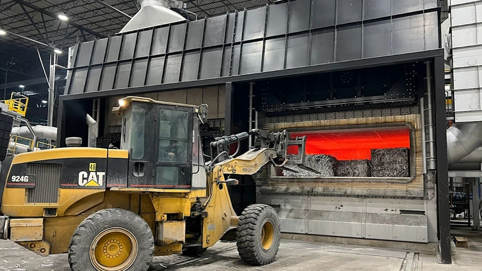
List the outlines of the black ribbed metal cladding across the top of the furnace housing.
{"label": "black ribbed metal cladding across the top of the furnace housing", "polygon": [[74,47],[66,94],[431,50],[437,0],[294,0]]}

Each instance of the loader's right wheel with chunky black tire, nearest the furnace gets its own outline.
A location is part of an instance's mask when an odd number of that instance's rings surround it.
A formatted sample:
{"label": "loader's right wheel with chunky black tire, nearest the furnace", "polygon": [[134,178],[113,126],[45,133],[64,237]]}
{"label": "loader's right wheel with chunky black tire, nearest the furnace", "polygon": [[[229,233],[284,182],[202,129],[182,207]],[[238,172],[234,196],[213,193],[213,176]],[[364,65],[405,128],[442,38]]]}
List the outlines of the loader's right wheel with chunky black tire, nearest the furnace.
{"label": "loader's right wheel with chunky black tire, nearest the furnace", "polygon": [[265,204],[249,205],[239,217],[236,229],[239,256],[253,265],[272,263],[280,247],[280,236],[275,209]]}

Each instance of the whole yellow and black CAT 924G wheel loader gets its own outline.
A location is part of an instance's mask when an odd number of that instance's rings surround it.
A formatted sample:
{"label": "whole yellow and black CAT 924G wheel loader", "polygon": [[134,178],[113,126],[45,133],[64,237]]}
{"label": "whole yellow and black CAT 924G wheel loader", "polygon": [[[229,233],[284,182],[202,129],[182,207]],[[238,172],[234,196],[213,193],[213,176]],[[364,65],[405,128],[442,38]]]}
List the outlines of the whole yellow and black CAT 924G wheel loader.
{"label": "whole yellow and black CAT 924G wheel loader", "polygon": [[[237,216],[227,186],[238,183],[231,175],[268,163],[284,168],[290,145],[298,160],[289,163],[304,167],[306,138],[258,129],[224,136],[204,162],[199,125],[207,105],[126,97],[113,113],[122,117],[120,149],[63,147],[4,160],[0,238],[39,255],[68,253],[74,271],[147,270],[153,256],[198,255],[221,239],[235,240],[249,264],[274,261],[275,210],[254,204]],[[250,134],[259,149],[229,154]]]}

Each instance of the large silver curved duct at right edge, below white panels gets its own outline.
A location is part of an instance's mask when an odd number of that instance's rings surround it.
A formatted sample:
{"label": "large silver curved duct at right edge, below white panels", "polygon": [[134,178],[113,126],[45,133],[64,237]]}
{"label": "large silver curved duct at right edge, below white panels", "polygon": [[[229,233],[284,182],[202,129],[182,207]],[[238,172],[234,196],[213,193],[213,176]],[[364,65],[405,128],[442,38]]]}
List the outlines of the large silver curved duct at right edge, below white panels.
{"label": "large silver curved duct at right edge, below white panels", "polygon": [[480,145],[482,145],[482,123],[454,124],[447,129],[448,164],[458,163]]}

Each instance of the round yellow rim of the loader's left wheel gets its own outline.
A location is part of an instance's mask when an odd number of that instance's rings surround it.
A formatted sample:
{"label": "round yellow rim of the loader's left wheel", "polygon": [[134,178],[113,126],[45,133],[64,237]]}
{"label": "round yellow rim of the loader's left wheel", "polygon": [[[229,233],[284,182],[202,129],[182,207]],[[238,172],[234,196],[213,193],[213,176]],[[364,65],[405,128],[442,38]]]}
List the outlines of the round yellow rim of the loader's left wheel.
{"label": "round yellow rim of the loader's left wheel", "polygon": [[100,271],[122,271],[137,257],[137,239],[123,228],[110,228],[97,234],[91,244],[91,262]]}

